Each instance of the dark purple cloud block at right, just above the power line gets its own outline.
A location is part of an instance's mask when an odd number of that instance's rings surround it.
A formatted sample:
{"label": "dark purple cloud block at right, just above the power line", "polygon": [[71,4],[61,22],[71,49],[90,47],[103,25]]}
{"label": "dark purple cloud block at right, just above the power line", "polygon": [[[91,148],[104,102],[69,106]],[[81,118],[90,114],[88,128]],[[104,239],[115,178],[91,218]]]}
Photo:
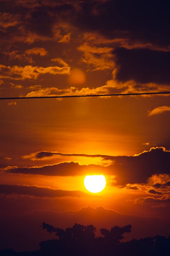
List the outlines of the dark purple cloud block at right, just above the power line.
{"label": "dark purple cloud block at right, just above the power line", "polygon": [[119,67],[117,80],[170,84],[170,52],[119,48],[114,53]]}

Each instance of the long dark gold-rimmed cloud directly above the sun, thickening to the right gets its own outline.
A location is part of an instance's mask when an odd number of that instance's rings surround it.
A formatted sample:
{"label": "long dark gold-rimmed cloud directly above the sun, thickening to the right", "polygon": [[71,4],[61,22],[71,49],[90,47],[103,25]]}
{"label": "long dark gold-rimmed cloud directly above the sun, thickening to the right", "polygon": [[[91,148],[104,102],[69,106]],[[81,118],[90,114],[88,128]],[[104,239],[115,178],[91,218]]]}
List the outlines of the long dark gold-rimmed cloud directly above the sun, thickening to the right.
{"label": "long dark gold-rimmed cloud directly above the sun, thickening to the right", "polygon": [[[49,152],[48,154],[45,152],[42,155],[40,153],[40,156],[51,155],[51,153],[52,152]],[[77,154],[73,155],[77,156]],[[80,155],[82,156],[83,154]],[[103,156],[103,159],[112,160],[113,164],[104,167],[98,165],[79,165],[78,162],[72,161],[54,165],[45,165],[43,167],[7,167],[2,170],[9,173],[53,176],[108,174],[116,176],[115,180],[117,182],[115,185],[147,183],[149,177],[153,174],[170,174],[170,151],[166,151],[164,147],[153,147],[149,151],[144,151],[135,156]],[[164,183],[166,182],[167,181],[165,180]],[[156,182],[154,184],[156,184]]]}

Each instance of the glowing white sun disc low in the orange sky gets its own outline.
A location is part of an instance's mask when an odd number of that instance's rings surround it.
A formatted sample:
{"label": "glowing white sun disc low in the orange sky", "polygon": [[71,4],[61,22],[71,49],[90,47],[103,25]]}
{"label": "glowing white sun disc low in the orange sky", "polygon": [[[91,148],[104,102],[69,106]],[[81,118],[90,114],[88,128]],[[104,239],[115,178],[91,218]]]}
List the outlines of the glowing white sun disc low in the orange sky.
{"label": "glowing white sun disc low in the orange sky", "polygon": [[86,175],[84,186],[91,193],[99,193],[105,188],[106,178],[104,175]]}

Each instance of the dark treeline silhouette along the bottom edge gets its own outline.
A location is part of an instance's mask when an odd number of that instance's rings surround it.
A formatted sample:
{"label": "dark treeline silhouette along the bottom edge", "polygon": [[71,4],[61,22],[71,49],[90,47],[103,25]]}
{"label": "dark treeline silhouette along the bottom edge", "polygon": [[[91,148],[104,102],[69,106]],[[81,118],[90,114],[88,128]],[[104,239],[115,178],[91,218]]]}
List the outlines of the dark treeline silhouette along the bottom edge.
{"label": "dark treeline silhouette along the bottom edge", "polygon": [[42,223],[40,226],[49,233],[55,233],[56,239],[40,242],[40,250],[34,252],[15,252],[12,249],[0,252],[2,256],[170,256],[170,237],[163,236],[133,239],[122,242],[124,233],[130,233],[131,225],[114,226],[111,230],[100,229],[101,236],[93,225],[75,223],[64,229]]}

